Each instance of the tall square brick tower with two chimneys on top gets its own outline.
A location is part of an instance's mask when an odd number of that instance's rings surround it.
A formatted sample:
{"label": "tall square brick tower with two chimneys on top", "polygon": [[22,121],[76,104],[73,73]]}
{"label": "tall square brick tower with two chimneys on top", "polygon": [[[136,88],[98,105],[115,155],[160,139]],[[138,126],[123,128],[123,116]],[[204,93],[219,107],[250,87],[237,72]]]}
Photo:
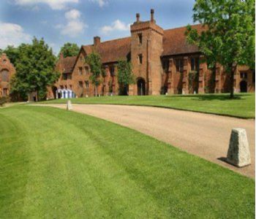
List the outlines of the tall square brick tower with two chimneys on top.
{"label": "tall square brick tower with two chimneys on top", "polygon": [[129,86],[133,95],[159,95],[162,86],[161,55],[164,31],[154,20],[154,9],[151,9],[151,20],[140,21],[140,14],[131,26],[131,61],[135,85]]}

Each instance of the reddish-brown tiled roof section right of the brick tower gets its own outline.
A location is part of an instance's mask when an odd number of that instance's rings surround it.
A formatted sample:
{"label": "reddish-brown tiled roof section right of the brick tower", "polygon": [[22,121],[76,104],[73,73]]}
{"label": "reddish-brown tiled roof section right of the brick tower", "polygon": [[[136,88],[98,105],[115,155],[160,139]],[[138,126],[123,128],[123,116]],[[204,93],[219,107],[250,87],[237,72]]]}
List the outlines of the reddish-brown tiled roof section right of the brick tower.
{"label": "reddish-brown tiled roof section right of the brick tower", "polygon": [[[194,25],[192,28],[197,31],[203,31],[203,26]],[[198,47],[195,45],[189,45],[186,40],[185,31],[187,27],[173,28],[164,31],[163,39],[163,53],[162,55],[178,55],[185,53],[197,53]]]}

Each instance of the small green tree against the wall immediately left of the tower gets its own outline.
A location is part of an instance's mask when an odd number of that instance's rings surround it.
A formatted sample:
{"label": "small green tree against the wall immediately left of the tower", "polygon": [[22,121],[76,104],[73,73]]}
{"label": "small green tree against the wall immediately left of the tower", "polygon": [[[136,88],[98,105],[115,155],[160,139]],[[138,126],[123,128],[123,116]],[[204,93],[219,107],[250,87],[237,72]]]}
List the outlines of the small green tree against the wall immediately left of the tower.
{"label": "small green tree against the wall immediately left of the tower", "polygon": [[118,61],[119,94],[128,95],[128,86],[135,82],[132,74],[132,64],[126,60]]}

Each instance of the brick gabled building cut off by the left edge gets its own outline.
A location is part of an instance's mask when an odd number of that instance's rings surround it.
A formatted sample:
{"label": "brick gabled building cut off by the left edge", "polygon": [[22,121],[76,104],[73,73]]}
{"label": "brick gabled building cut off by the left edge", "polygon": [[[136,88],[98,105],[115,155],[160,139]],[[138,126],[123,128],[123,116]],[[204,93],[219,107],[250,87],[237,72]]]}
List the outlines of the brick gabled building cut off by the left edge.
{"label": "brick gabled building cut off by the left edge", "polygon": [[15,67],[11,64],[5,53],[0,56],[0,97],[9,96],[10,80],[15,74]]}

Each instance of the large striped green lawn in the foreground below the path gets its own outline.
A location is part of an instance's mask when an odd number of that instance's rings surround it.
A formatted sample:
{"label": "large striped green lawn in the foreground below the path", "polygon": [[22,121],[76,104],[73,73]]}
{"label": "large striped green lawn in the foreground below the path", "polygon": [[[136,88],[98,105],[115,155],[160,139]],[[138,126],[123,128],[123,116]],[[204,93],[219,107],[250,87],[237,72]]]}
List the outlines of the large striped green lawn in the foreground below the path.
{"label": "large striped green lawn in the foreground below the path", "polygon": [[255,218],[255,180],[76,112],[0,109],[0,218]]}

